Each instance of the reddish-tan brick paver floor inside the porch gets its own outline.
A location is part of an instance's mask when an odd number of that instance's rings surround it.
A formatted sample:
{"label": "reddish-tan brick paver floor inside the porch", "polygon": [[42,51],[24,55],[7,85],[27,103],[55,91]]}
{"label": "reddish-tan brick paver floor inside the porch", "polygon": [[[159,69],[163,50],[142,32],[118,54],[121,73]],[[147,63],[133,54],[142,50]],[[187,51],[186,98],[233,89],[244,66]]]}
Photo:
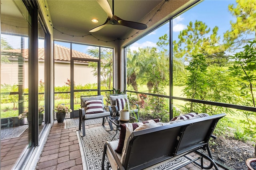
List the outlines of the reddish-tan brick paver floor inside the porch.
{"label": "reddish-tan brick paver floor inside the porch", "polygon": [[[89,125],[86,128],[95,126],[101,126],[101,124]],[[77,129],[65,129],[64,123],[54,122],[36,170],[82,170],[82,159],[76,136]],[[196,154],[190,154],[190,156],[194,157]],[[204,163],[208,164],[208,161]],[[201,170],[201,168],[188,164],[180,170]],[[223,169],[220,168],[220,170]]]}

